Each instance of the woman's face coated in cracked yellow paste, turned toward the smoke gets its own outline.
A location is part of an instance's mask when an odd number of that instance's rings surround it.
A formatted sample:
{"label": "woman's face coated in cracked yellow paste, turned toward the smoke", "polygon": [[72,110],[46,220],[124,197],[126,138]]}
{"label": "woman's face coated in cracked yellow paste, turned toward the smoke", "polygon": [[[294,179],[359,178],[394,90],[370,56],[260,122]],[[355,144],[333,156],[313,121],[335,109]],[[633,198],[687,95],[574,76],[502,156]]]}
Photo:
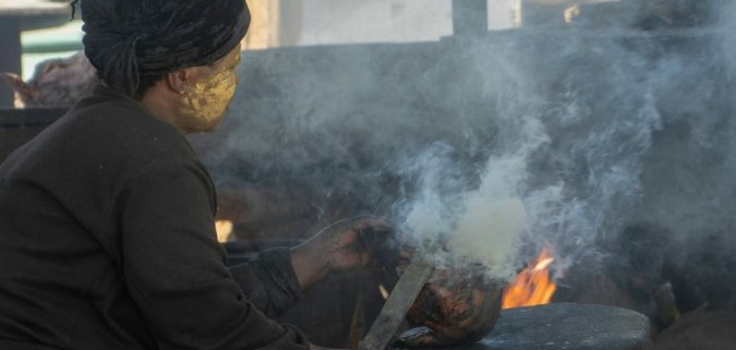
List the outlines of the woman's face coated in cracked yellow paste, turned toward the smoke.
{"label": "woman's face coated in cracked yellow paste, turned toward the smoke", "polygon": [[212,131],[219,125],[236,92],[240,63],[240,46],[209,65],[197,68],[200,73],[183,92],[180,109],[184,132]]}

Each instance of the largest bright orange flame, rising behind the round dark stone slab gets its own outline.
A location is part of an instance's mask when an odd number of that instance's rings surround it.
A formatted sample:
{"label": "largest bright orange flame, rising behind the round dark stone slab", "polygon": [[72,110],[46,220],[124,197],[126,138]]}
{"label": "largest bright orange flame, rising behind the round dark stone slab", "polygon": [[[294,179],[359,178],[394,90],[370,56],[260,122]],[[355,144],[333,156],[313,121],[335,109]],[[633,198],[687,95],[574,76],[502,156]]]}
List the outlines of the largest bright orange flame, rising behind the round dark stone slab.
{"label": "largest bright orange flame, rising behind the round dark stone slab", "polygon": [[521,270],[504,290],[503,309],[546,304],[557,286],[550,278],[550,265],[555,258],[545,246],[536,258]]}

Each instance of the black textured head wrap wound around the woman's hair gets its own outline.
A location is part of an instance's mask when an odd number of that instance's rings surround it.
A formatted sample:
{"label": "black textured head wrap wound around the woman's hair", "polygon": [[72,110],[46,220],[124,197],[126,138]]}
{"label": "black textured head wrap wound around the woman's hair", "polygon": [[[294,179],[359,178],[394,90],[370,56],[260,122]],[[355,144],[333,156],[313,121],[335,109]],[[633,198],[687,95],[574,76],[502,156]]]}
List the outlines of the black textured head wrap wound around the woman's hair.
{"label": "black textured head wrap wound around the woman's hair", "polygon": [[244,0],[81,0],[84,52],[102,81],[138,96],[142,81],[205,65],[240,45]]}

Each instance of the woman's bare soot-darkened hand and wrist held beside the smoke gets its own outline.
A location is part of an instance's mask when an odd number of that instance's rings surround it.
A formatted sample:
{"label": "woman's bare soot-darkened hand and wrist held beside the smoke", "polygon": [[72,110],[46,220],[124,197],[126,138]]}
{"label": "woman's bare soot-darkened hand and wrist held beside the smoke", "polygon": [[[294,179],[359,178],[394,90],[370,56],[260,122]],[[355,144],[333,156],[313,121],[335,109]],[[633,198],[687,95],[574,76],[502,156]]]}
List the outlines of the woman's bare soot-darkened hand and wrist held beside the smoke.
{"label": "woman's bare soot-darkened hand and wrist held beside the smoke", "polygon": [[291,251],[302,289],[335,273],[367,266],[395,267],[401,252],[397,231],[385,219],[359,216],[337,221]]}

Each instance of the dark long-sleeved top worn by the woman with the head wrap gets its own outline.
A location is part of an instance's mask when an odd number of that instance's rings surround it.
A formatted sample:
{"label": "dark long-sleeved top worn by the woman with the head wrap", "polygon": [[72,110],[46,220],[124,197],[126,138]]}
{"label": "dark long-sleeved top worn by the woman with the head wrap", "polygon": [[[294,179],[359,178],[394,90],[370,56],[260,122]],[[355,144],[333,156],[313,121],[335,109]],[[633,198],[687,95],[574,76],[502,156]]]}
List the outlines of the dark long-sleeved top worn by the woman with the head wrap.
{"label": "dark long-sleeved top worn by the woman with the head wrap", "polygon": [[[286,250],[228,269],[184,135],[104,87],[0,166],[0,348],[306,349]],[[256,307],[257,305],[257,307]]]}

